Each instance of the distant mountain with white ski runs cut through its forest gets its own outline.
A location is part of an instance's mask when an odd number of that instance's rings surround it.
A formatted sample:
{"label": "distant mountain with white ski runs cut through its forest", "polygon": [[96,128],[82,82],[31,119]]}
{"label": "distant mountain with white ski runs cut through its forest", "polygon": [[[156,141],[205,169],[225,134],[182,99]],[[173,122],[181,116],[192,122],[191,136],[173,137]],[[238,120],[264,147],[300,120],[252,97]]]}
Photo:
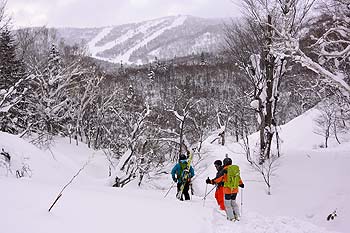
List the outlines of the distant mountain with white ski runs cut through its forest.
{"label": "distant mountain with white ski runs cut through its forest", "polygon": [[57,30],[68,44],[86,44],[94,58],[144,64],[155,57],[218,51],[224,41],[225,20],[179,15],[104,28]]}

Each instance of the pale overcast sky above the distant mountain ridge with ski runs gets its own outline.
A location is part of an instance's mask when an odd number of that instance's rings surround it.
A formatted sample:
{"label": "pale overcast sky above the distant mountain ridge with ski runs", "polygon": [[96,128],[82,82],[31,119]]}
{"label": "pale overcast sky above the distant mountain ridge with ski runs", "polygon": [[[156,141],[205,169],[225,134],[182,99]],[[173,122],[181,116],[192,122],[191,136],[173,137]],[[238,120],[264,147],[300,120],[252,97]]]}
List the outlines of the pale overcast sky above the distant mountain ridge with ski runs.
{"label": "pale overcast sky above the distant mountain ridge with ski runs", "polygon": [[169,15],[235,17],[232,0],[8,0],[14,26],[97,27]]}

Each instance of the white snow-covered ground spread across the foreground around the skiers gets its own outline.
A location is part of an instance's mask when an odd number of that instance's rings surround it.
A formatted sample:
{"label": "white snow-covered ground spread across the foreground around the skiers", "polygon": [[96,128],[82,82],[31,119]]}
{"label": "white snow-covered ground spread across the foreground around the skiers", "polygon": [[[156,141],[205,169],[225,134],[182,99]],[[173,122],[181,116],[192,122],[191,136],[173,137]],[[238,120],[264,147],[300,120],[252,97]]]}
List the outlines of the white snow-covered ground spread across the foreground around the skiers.
{"label": "white snow-covered ground spread across the foreground around the skiers", "polygon": [[[0,150],[11,155],[12,172],[5,172],[0,163],[0,232],[350,232],[350,143],[344,139],[340,145],[320,148],[323,139],[313,133],[312,119],[317,114],[308,111],[280,128],[283,153],[272,177],[272,195],[266,194],[262,177],[251,169],[241,146],[231,138],[226,146],[210,144],[213,134],[204,144],[203,159],[194,158],[195,194],[184,202],[175,198],[175,188],[164,197],[172,184],[170,175],[145,180],[141,187],[135,182],[113,188],[108,186],[108,162],[101,151],[70,144],[66,138],[57,138],[51,152],[44,151],[0,132]],[[226,220],[213,192],[202,200],[205,179],[215,175],[213,162],[226,153],[240,166],[245,183],[237,198],[242,210],[239,222]],[[48,212],[63,186],[88,161]],[[14,173],[23,164],[31,169],[31,177],[17,179]],[[326,221],[335,209],[338,216]]]}

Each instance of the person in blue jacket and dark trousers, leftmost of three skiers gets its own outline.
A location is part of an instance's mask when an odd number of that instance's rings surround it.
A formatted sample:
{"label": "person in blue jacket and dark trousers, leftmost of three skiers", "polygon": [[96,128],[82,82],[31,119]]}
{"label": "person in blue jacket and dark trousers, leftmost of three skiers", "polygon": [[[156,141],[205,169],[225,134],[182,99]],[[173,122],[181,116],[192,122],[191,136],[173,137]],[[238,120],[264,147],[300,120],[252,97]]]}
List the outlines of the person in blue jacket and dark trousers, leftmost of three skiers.
{"label": "person in blue jacket and dark trousers, leftmost of three skiers", "polygon": [[[180,191],[181,185],[185,184],[182,194],[185,196],[185,200],[190,200],[190,194],[188,191],[190,189],[191,178],[194,176],[194,170],[192,166],[190,166],[190,169],[188,171],[187,163],[187,156],[181,154],[179,156],[179,162],[171,170],[171,177],[173,178],[174,182],[177,182],[177,192]],[[184,174],[186,172],[188,172],[188,178],[184,180]],[[183,201],[182,196],[180,200]]]}

